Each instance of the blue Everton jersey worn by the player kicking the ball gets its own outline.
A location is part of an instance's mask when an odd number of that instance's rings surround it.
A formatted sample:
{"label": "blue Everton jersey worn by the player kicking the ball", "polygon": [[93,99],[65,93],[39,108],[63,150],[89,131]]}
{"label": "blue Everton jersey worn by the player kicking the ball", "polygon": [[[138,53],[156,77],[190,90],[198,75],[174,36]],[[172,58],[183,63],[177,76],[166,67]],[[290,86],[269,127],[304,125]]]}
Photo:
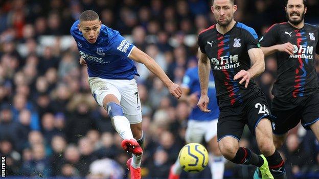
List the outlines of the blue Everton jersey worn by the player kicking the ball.
{"label": "blue Everton jersey worn by the player kicking the ball", "polygon": [[89,77],[131,80],[139,75],[129,55],[134,45],[126,41],[118,31],[102,24],[94,44],[89,43],[78,29],[79,20],[71,27],[80,55],[87,64]]}

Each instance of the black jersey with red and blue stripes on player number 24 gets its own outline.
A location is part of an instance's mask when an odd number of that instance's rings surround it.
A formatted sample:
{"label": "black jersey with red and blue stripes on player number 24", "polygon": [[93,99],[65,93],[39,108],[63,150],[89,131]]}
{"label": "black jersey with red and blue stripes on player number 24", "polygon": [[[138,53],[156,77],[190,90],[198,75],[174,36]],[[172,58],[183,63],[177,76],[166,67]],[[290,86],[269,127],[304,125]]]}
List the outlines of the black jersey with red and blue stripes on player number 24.
{"label": "black jersey with red and blue stripes on player number 24", "polygon": [[199,33],[198,45],[201,52],[210,59],[219,106],[241,104],[260,92],[254,80],[250,80],[247,88],[245,83],[239,84],[240,80],[234,80],[240,70],[250,68],[247,50],[259,48],[254,29],[236,22],[229,32],[222,35],[213,25]]}

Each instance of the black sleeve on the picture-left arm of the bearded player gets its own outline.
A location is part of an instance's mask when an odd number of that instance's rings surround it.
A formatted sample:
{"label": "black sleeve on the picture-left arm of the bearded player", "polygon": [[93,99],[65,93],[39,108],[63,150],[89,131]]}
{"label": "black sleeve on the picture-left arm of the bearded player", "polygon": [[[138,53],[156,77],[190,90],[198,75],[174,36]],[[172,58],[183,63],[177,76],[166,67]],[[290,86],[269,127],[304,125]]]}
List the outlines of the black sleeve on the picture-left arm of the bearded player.
{"label": "black sleeve on the picture-left arm of the bearded player", "polygon": [[277,40],[279,38],[278,25],[279,24],[274,24],[266,31],[264,36],[262,36],[259,40],[260,46],[269,47],[277,44]]}

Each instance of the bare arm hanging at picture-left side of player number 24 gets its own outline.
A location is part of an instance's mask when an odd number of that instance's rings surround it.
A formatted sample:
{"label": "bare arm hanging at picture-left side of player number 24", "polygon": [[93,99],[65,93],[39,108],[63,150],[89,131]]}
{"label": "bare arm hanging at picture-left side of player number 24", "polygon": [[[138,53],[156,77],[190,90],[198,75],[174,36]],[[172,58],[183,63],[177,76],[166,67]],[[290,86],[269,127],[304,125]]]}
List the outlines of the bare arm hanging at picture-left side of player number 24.
{"label": "bare arm hanging at picture-left side of player number 24", "polygon": [[208,81],[210,74],[210,63],[206,54],[203,54],[198,48],[198,76],[200,84],[200,98],[198,100],[197,106],[203,112],[211,112],[208,109],[209,97],[208,97]]}

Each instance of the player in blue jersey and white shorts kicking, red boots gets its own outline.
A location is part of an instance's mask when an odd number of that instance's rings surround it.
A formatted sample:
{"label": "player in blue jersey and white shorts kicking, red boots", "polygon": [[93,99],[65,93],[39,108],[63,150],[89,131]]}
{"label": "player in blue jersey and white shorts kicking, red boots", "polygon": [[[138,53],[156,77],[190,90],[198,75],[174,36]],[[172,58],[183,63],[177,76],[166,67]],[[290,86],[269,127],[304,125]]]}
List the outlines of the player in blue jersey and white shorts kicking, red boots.
{"label": "player in blue jersey and white shorts kicking, red boots", "polygon": [[118,31],[102,24],[96,12],[84,11],[72,25],[71,34],[81,55],[80,64],[87,66],[88,83],[95,100],[107,110],[113,127],[124,139],[123,149],[133,154],[127,161],[131,178],[141,178],[144,138],[141,101],[134,80],[139,74],[133,60],[143,63],[176,98],[182,91],[154,59],[126,41]]}

